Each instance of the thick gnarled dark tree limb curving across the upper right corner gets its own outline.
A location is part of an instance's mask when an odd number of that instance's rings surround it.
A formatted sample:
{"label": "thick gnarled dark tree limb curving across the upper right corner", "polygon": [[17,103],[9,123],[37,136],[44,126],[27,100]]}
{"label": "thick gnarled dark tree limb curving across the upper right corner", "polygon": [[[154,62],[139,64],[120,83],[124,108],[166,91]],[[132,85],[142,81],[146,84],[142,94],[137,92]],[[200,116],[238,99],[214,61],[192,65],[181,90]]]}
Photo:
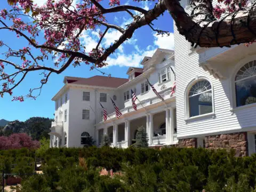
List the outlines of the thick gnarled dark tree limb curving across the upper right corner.
{"label": "thick gnarled dark tree limb curving across the upper right corner", "polygon": [[226,19],[217,21],[211,20],[211,0],[200,2],[206,8],[201,11],[201,14],[197,13],[194,18],[185,12],[178,0],[163,1],[179,33],[193,44],[201,47],[229,47],[234,44],[252,42],[256,38],[255,7],[230,13]]}

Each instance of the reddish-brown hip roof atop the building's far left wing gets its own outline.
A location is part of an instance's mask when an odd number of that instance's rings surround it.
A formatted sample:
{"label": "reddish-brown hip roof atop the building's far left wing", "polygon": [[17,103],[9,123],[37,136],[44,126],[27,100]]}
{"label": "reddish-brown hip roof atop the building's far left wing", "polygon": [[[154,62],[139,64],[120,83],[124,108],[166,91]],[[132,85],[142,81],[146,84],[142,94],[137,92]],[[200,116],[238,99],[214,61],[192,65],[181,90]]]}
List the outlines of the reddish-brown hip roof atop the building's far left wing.
{"label": "reddish-brown hip roof atop the building's far left wing", "polygon": [[96,75],[89,78],[81,77],[65,77],[68,84],[79,84],[79,85],[90,85],[90,86],[102,86],[102,87],[113,87],[117,88],[120,85],[125,84],[129,81],[126,78],[107,77]]}

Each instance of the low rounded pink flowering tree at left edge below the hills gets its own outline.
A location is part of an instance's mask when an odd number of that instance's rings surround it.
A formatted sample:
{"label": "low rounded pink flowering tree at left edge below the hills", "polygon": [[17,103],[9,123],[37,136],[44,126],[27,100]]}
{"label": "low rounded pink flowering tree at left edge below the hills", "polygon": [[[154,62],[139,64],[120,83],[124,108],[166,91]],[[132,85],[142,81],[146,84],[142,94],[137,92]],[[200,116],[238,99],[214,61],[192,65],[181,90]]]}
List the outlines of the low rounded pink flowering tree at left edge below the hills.
{"label": "low rounded pink flowering tree at left edge below the hills", "polygon": [[3,149],[37,149],[39,148],[39,141],[33,141],[26,133],[14,133],[9,137],[0,137],[0,150]]}

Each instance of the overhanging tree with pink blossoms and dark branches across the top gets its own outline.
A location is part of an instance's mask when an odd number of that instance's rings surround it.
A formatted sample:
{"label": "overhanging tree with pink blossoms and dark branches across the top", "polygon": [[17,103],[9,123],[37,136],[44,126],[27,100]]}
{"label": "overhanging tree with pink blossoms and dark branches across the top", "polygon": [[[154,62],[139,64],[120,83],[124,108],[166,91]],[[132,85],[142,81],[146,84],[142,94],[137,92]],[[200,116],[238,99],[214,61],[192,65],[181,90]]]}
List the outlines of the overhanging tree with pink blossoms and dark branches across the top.
{"label": "overhanging tree with pink blossoms and dark branches across the top", "polygon": [[[5,93],[12,94],[30,71],[42,71],[43,75],[41,86],[30,89],[25,95],[36,98],[37,94],[33,92],[37,90],[40,93],[52,73],[60,74],[70,65],[92,65],[91,69],[106,66],[107,57],[131,38],[136,29],[148,25],[158,34],[169,34],[168,31],[155,29],[152,23],[166,10],[172,15],[180,34],[195,47],[253,42],[256,38],[255,6],[247,1],[218,0],[219,3],[213,7],[212,0],[191,0],[193,11],[188,15],[179,0],[158,0],[149,11],[139,6],[120,5],[119,0],[109,0],[109,7],[103,7],[101,0],[81,0],[76,6],[73,0],[47,0],[43,6],[33,4],[32,0],[7,0],[12,9],[0,11],[0,31],[9,30],[17,38],[25,39],[27,44],[14,50],[0,39],[1,49],[5,49],[6,56],[0,59],[0,94],[2,97]],[[125,12],[133,21],[126,28],[107,23],[105,15],[115,12]],[[96,31],[100,26],[105,29],[99,32],[97,46],[86,53],[79,37],[83,31]],[[122,35],[109,47],[101,47],[101,41],[109,29],[118,30]],[[38,36],[42,34],[44,42],[39,43]],[[35,50],[39,52],[35,54]],[[17,58],[20,59],[18,63]],[[49,58],[55,61],[54,66],[45,64]],[[25,97],[18,96],[13,100],[23,101]]]}

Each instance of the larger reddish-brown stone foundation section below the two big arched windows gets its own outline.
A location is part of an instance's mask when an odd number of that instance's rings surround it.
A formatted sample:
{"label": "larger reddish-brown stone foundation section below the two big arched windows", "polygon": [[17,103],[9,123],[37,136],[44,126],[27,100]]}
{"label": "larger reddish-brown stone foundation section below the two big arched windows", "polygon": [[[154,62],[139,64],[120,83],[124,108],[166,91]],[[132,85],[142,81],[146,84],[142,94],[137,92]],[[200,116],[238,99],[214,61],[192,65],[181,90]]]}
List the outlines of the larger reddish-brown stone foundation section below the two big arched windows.
{"label": "larger reddish-brown stone foundation section below the two big arched windows", "polygon": [[207,149],[235,149],[237,157],[248,155],[247,133],[238,132],[230,134],[211,135],[205,137]]}

